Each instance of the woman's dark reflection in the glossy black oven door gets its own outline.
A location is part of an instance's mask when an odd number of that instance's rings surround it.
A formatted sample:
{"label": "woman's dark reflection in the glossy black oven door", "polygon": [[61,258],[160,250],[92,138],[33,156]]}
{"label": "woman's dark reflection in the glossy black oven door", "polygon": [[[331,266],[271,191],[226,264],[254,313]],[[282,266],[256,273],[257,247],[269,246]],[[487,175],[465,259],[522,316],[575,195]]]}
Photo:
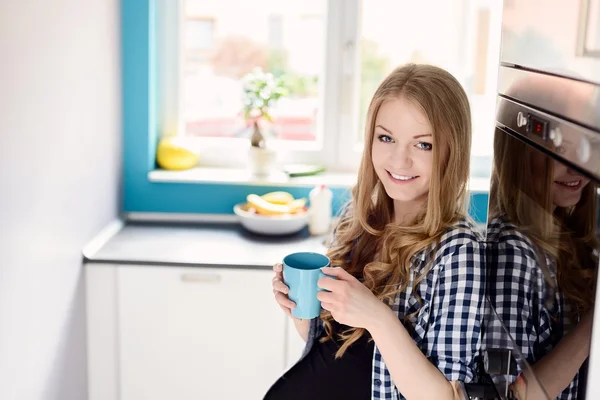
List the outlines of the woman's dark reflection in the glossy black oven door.
{"label": "woman's dark reflection in the glossy black oven door", "polygon": [[[541,82],[521,82],[514,89],[538,90],[540,96],[562,91],[570,99],[576,95]],[[576,158],[574,135],[565,132],[555,148],[569,160]],[[598,264],[596,190],[594,182],[573,169],[496,131],[488,293],[516,350],[531,366],[522,370],[519,365],[518,376],[511,377],[519,399],[577,399],[579,369],[590,349]],[[494,329],[487,335],[488,345],[506,341]]]}

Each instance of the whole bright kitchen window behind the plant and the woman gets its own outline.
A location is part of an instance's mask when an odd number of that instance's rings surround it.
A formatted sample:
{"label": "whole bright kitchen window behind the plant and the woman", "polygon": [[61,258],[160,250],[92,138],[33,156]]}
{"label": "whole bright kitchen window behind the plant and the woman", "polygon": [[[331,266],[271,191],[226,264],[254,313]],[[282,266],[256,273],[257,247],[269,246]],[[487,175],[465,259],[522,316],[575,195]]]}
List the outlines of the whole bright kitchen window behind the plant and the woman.
{"label": "whole bright kitchen window behind the plant and the woman", "polygon": [[399,64],[427,62],[465,87],[473,175],[485,178],[501,6],[501,0],[162,0],[162,132],[188,137],[203,164],[243,165],[251,135],[241,112],[243,78],[259,67],[288,89],[267,125],[280,163],[355,170],[377,85]]}

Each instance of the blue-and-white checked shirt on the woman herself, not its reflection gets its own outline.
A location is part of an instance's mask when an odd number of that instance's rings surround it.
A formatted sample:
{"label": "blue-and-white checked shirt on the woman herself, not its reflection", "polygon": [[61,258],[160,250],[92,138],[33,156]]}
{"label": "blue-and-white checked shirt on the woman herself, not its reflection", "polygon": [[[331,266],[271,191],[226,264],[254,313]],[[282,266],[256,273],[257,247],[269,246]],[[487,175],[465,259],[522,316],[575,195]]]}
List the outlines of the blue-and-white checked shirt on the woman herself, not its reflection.
{"label": "blue-and-white checked shirt on the woman herself, not its reflection", "polygon": [[[461,221],[448,229],[439,246],[422,251],[413,260],[406,291],[399,293],[392,309],[409,319],[412,337],[423,354],[449,381],[471,382],[477,377],[481,348],[484,303],[484,249],[471,222]],[[426,260],[432,260],[427,264]],[[432,265],[416,287],[412,286],[427,265]],[[304,354],[322,334],[321,320],[312,321]],[[377,344],[373,353],[371,399],[404,399],[392,381]],[[424,382],[424,384],[426,384]]]}

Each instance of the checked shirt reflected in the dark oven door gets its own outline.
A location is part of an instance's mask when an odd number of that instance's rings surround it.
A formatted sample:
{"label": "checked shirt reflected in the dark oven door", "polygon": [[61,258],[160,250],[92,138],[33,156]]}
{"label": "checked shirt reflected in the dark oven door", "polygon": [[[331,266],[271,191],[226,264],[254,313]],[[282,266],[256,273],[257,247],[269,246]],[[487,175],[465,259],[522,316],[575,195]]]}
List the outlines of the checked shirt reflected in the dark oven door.
{"label": "checked shirt reflected in the dark oven door", "polygon": [[[488,224],[488,294],[495,313],[486,323],[484,346],[512,350],[517,359],[517,375],[493,377],[496,383],[513,383],[523,372],[523,359],[536,363],[572,327],[568,304],[548,285],[534,248],[529,238],[505,219],[497,217]],[[555,261],[547,255],[544,261],[547,275],[555,280]],[[577,385],[578,375],[557,399],[576,399]]]}

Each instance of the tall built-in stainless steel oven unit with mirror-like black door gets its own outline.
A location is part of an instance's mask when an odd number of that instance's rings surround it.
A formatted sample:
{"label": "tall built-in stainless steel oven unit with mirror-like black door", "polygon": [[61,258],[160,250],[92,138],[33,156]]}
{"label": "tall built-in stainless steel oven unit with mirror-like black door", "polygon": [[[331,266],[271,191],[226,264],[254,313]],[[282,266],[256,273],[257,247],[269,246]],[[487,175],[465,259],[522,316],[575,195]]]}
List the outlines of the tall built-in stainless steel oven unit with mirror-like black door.
{"label": "tall built-in stainless steel oven unit with mirror-like black door", "polygon": [[[504,0],[502,18],[482,366],[497,393],[486,398],[510,398],[521,376],[529,398],[598,399],[600,0]],[[584,356],[542,369],[569,334]]]}

